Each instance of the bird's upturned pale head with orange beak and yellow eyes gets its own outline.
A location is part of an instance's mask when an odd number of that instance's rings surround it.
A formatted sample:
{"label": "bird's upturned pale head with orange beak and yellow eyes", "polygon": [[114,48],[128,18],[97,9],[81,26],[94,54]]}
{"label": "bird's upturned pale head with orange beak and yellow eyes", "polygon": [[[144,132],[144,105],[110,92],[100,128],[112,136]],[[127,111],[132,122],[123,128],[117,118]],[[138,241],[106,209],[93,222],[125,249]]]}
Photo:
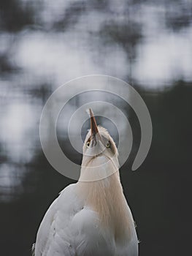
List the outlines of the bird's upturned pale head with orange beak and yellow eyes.
{"label": "bird's upturned pale head with orange beak and yellow eyes", "polygon": [[118,149],[107,129],[97,126],[93,111],[89,111],[91,129],[83,145],[82,169],[94,173],[96,179],[106,178],[118,171]]}

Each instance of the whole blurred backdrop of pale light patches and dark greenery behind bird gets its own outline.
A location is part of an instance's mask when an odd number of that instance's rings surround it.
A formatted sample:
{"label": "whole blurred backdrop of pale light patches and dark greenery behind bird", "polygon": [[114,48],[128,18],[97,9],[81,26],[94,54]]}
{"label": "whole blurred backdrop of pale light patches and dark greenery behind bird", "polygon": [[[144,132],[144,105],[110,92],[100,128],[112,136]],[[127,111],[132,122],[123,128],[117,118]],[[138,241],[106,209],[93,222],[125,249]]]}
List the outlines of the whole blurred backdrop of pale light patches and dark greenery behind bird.
{"label": "whole blurred backdrop of pale light patches and dark greenery behind bird", "polygon": [[[142,95],[153,122],[147,159],[139,170],[131,171],[139,146],[139,122],[119,99],[82,94],[69,102],[63,118],[94,97],[123,110],[133,128],[134,147],[120,175],[137,222],[139,255],[190,255],[190,0],[1,1],[1,255],[31,255],[47,207],[61,189],[74,182],[47,162],[39,141],[39,118],[58,86],[91,74],[126,80]],[[110,126],[101,117],[97,121]],[[61,146],[80,163],[81,155],[69,146],[66,132],[62,121],[58,122]]]}

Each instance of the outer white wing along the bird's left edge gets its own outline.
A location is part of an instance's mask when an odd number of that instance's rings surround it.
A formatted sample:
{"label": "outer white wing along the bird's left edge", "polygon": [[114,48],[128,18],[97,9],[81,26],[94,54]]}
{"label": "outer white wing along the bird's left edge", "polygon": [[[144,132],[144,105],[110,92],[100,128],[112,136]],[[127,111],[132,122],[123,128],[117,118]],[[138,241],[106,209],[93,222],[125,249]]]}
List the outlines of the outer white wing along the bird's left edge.
{"label": "outer white wing along the bird's left edge", "polygon": [[35,256],[74,256],[69,234],[69,220],[79,211],[80,202],[74,195],[75,184],[66,187],[53,201],[37,232]]}

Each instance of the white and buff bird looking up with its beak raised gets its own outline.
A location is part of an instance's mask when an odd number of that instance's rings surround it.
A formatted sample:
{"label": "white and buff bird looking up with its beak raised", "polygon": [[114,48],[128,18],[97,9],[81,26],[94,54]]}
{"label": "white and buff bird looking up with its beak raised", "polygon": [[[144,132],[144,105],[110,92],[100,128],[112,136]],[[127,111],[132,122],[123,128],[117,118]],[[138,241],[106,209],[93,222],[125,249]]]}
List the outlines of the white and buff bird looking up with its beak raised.
{"label": "white and buff bird looking up with its beak raised", "polygon": [[118,149],[96,124],[82,148],[80,178],[64,188],[37,231],[34,256],[137,256],[138,239],[120,182]]}

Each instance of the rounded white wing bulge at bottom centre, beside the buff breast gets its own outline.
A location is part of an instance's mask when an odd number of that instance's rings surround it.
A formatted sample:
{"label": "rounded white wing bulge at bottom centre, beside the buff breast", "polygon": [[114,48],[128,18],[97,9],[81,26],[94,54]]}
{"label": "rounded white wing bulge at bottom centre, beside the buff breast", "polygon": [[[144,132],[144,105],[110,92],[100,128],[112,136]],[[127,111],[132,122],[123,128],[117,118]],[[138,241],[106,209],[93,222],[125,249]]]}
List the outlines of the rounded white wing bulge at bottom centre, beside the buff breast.
{"label": "rounded white wing bulge at bottom centre, beside the buff breast", "polygon": [[74,248],[80,256],[115,256],[115,241],[110,230],[101,226],[99,216],[85,206],[72,218]]}

